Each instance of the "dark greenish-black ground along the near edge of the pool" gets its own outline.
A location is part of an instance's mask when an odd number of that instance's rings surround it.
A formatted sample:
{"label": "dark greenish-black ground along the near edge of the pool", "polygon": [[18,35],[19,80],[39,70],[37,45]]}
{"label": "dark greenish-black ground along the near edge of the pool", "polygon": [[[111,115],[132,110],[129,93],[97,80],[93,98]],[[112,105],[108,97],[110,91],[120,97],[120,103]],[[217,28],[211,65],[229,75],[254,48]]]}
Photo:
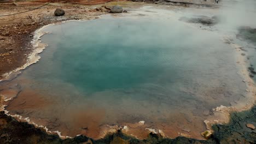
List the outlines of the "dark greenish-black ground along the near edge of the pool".
{"label": "dark greenish-black ground along the near edge of the pool", "polygon": [[246,127],[247,123],[256,125],[256,106],[251,110],[234,112],[231,121],[226,125],[213,125],[214,133],[208,140],[195,140],[186,137],[165,139],[158,134],[150,133],[147,139],[138,140],[121,131],[109,134],[104,139],[93,140],[86,136],[73,139],[60,139],[57,135],[46,134],[44,130],[35,128],[26,122],[18,122],[15,118],[0,113],[0,143],[256,143],[256,129]]}

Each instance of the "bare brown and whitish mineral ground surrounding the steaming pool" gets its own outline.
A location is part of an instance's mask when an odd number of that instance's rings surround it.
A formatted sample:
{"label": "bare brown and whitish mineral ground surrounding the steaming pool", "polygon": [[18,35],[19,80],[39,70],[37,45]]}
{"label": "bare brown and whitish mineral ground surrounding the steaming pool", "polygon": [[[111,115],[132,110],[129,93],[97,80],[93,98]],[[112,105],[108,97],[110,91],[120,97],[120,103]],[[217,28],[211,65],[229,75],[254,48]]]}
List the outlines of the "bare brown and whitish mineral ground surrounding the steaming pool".
{"label": "bare brown and whitish mineral ground surrounding the steaming pool", "polygon": [[[0,1],[1,2],[1,1]],[[75,3],[89,4],[84,1],[74,1]],[[222,1],[220,1],[222,2]],[[90,3],[95,4],[96,1]],[[101,3],[98,1],[98,3]],[[121,6],[124,7],[125,10],[129,11],[128,14],[113,14],[113,17],[144,17],[152,14],[154,16],[164,16],[161,13],[167,13],[166,11],[170,10],[174,13],[173,17],[180,17],[180,21],[187,23],[185,25],[191,26],[191,28],[198,28],[200,31],[208,31],[208,32],[216,32],[218,33],[219,39],[223,41],[223,44],[226,45],[226,49],[232,49],[234,51],[234,64],[237,70],[237,76],[239,77],[241,82],[241,91],[242,93],[236,93],[236,97],[232,97],[233,100],[230,101],[230,104],[222,106],[219,105],[217,107],[213,107],[212,110],[201,111],[201,113],[205,116],[205,121],[200,124],[200,130],[205,131],[209,130],[213,133],[212,137],[208,141],[198,141],[195,139],[187,139],[183,137],[178,137],[177,139],[167,139],[170,137],[176,136],[185,136],[192,137],[196,139],[205,139],[200,135],[200,132],[195,133],[195,131],[191,131],[194,127],[184,127],[182,129],[175,129],[175,127],[169,127],[166,124],[160,124],[165,130],[158,129],[158,126],[153,126],[146,123],[144,121],[138,121],[134,123],[126,123],[122,125],[102,125],[100,129],[100,133],[97,130],[96,133],[82,133],[85,136],[78,136],[74,139],[69,139],[69,135],[67,129],[62,129],[62,131],[57,131],[59,129],[50,129],[55,130],[54,132],[48,131],[48,134],[55,135],[47,135],[44,131],[49,130],[45,127],[44,123],[39,122],[38,119],[30,119],[27,118],[26,115],[22,116],[22,112],[28,111],[31,109],[33,111],[33,107],[36,107],[34,110],[41,109],[40,107],[44,107],[45,105],[49,105],[50,103],[44,103],[44,99],[41,99],[40,94],[34,91],[21,91],[20,85],[15,84],[15,78],[20,74],[19,70],[26,69],[26,67],[30,64],[33,64],[38,61],[37,53],[42,52],[42,48],[45,47],[43,44],[39,44],[40,37],[35,37],[34,32],[43,26],[48,24],[58,24],[62,21],[68,20],[92,20],[97,19],[103,14],[109,13],[109,8],[112,5],[117,4],[117,2],[110,2],[106,4],[99,5],[80,5],[74,3],[51,3],[37,10],[30,11],[28,13],[22,13],[19,15],[13,16],[3,16],[0,17],[0,74],[1,79],[4,81],[1,83],[0,92],[1,92],[1,103],[4,109],[5,114],[11,114],[12,117],[18,119],[18,121],[28,122],[30,124],[34,124],[34,126],[39,128],[34,128],[33,125],[29,125],[27,123],[19,123],[16,119],[11,118],[10,116],[5,115],[3,112],[1,113],[1,127],[0,134],[2,137],[2,141],[7,143],[17,143],[19,137],[22,138],[22,143],[39,143],[39,142],[48,142],[48,143],[80,143],[80,142],[92,142],[92,143],[218,143],[218,142],[226,142],[230,143],[231,141],[236,142],[255,142],[255,130],[253,129],[253,125],[255,125],[255,110],[254,108],[250,110],[254,105],[254,97],[255,97],[255,88],[254,81],[252,79],[254,70],[253,70],[253,62],[249,61],[249,55],[247,56],[247,51],[252,51],[254,37],[243,38],[241,35],[239,39],[236,39],[236,34],[233,32],[234,25],[219,25],[215,27],[217,23],[219,23],[222,17],[215,16],[217,11],[220,9],[220,6],[225,5],[226,3],[220,3],[219,6],[214,5],[213,1],[154,1],[155,5],[150,3],[135,3],[135,2],[119,2]],[[42,1],[38,2],[18,2],[18,3],[1,3],[0,5],[0,15],[13,14],[26,10],[31,10],[35,7],[42,5]],[[166,6],[168,5],[168,6]],[[54,10],[56,8],[65,9],[65,16],[55,17],[53,15]],[[151,10],[150,10],[151,9]],[[222,9],[223,10],[223,9]],[[155,13],[155,14],[154,14]],[[158,14],[156,14],[158,13]],[[173,14],[170,13],[170,14]],[[176,14],[175,14],[176,13]],[[197,15],[200,14],[200,15]],[[254,12],[252,12],[254,13]],[[203,16],[201,15],[203,14]],[[234,22],[235,23],[235,22]],[[237,25],[241,26],[251,26],[253,27],[251,22],[247,23],[238,23]],[[232,28],[227,29],[226,26],[230,26]],[[225,29],[223,31],[223,29]],[[245,28],[249,29],[249,28]],[[43,29],[38,29],[37,33],[39,36],[42,35]],[[250,33],[254,32],[249,31]],[[247,33],[246,33],[247,34]],[[247,39],[245,41],[245,39]],[[248,41],[248,39],[252,39]],[[31,43],[33,41],[33,43]],[[36,47],[35,47],[36,46]],[[37,49],[35,49],[37,48]],[[46,48],[47,49],[47,48]],[[248,49],[248,50],[247,50]],[[32,54],[31,54],[32,53]],[[248,67],[250,67],[248,69]],[[220,71],[221,73],[221,71]],[[7,77],[8,76],[8,77]],[[7,78],[6,78],[7,77]],[[5,79],[6,78],[6,79]],[[29,83],[29,81],[23,81],[24,83]],[[237,83],[236,83],[237,84]],[[222,84],[220,87],[225,87],[226,85]],[[7,91],[8,89],[8,91]],[[183,89],[185,92],[195,93],[200,95],[200,93],[195,92],[194,89]],[[223,89],[218,90],[220,93],[224,91]],[[238,91],[238,90],[237,90]],[[214,93],[213,91],[211,93]],[[18,96],[17,96],[18,95]],[[208,94],[207,94],[208,95]],[[223,98],[226,99],[226,94],[223,94]],[[232,95],[232,94],[228,94]],[[26,103],[26,104],[25,104]],[[36,104],[36,105],[34,105]],[[8,106],[9,105],[9,106]],[[243,111],[248,110],[248,111]],[[10,111],[8,113],[8,111]],[[243,111],[241,113],[237,113],[236,111]],[[235,112],[230,115],[231,112]],[[31,112],[33,113],[33,112]],[[90,112],[88,112],[90,114]],[[79,115],[79,114],[78,114]],[[91,113],[92,116],[95,116]],[[207,116],[207,117],[206,117]],[[182,116],[179,116],[184,118]],[[231,119],[230,119],[231,117]],[[79,118],[79,117],[78,117]],[[90,117],[86,117],[89,118]],[[238,120],[239,119],[239,120]],[[142,119],[144,120],[144,119]],[[186,121],[189,121],[188,119]],[[89,122],[89,121],[88,121]],[[229,123],[229,124],[228,124]],[[240,127],[237,127],[237,123]],[[38,125],[39,124],[39,125]],[[56,125],[56,123],[51,122],[51,124]],[[206,125],[205,125],[206,124]],[[227,124],[227,125],[223,125]],[[249,124],[249,126],[248,126]],[[52,125],[51,125],[52,126]],[[195,125],[194,125],[195,126]],[[41,128],[40,128],[41,127]],[[55,127],[55,126],[54,126]],[[56,126],[58,127],[58,126]],[[198,126],[195,126],[198,128]],[[248,128],[249,127],[249,128]],[[251,128],[250,128],[251,127]],[[42,129],[43,128],[43,129]],[[128,128],[128,129],[127,129]],[[17,129],[28,129],[28,132],[24,130],[22,135],[16,134],[14,131]],[[167,130],[166,130],[167,129]],[[84,128],[85,131],[88,131],[88,128]],[[118,131],[117,131],[118,130]],[[141,131],[141,132],[139,132]],[[178,131],[178,133],[177,133]],[[235,131],[235,132],[234,132]],[[61,135],[60,132],[64,132],[64,135]],[[67,132],[67,133],[66,133]],[[151,132],[151,133],[150,133]],[[113,135],[107,135],[109,133],[115,133]],[[149,134],[150,133],[150,134]],[[155,134],[156,133],[156,134]],[[62,133],[63,134],[63,133]],[[77,133],[74,133],[77,134]],[[81,134],[81,133],[79,133]],[[89,137],[94,137],[100,140],[89,139]],[[95,135],[96,134],[96,135]],[[126,134],[126,135],[125,135]],[[32,136],[31,136],[32,135]],[[59,139],[59,136],[66,140]],[[107,136],[106,136],[107,135]],[[128,135],[128,136],[127,136]],[[130,137],[129,135],[133,135],[139,139],[145,139],[144,141],[137,140],[134,137]],[[25,140],[24,137],[31,137],[30,140]],[[34,137],[33,137],[34,136]],[[72,135],[74,137],[75,135]],[[104,137],[105,136],[105,137]],[[42,138],[44,137],[44,138]],[[46,140],[45,137],[47,137]],[[104,138],[103,138],[104,137]],[[146,137],[148,137],[146,139]],[[163,138],[164,137],[164,138]],[[167,137],[167,138],[165,138]],[[242,137],[242,138],[241,138]],[[49,140],[51,139],[51,140]]]}

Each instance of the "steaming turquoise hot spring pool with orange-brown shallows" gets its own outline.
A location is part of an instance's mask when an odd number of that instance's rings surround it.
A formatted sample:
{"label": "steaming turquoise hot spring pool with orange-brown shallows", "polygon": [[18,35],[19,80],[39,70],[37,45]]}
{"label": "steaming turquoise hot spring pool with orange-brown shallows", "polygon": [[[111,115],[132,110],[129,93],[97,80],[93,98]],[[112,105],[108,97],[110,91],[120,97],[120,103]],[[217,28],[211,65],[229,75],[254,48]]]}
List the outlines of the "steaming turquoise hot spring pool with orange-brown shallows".
{"label": "steaming turquoise hot spring pool with orange-brown shallows", "polygon": [[214,107],[230,106],[246,86],[235,51],[220,35],[170,17],[112,17],[45,28],[39,62],[1,94],[11,114],[62,135],[98,138],[126,126],[201,139]]}

